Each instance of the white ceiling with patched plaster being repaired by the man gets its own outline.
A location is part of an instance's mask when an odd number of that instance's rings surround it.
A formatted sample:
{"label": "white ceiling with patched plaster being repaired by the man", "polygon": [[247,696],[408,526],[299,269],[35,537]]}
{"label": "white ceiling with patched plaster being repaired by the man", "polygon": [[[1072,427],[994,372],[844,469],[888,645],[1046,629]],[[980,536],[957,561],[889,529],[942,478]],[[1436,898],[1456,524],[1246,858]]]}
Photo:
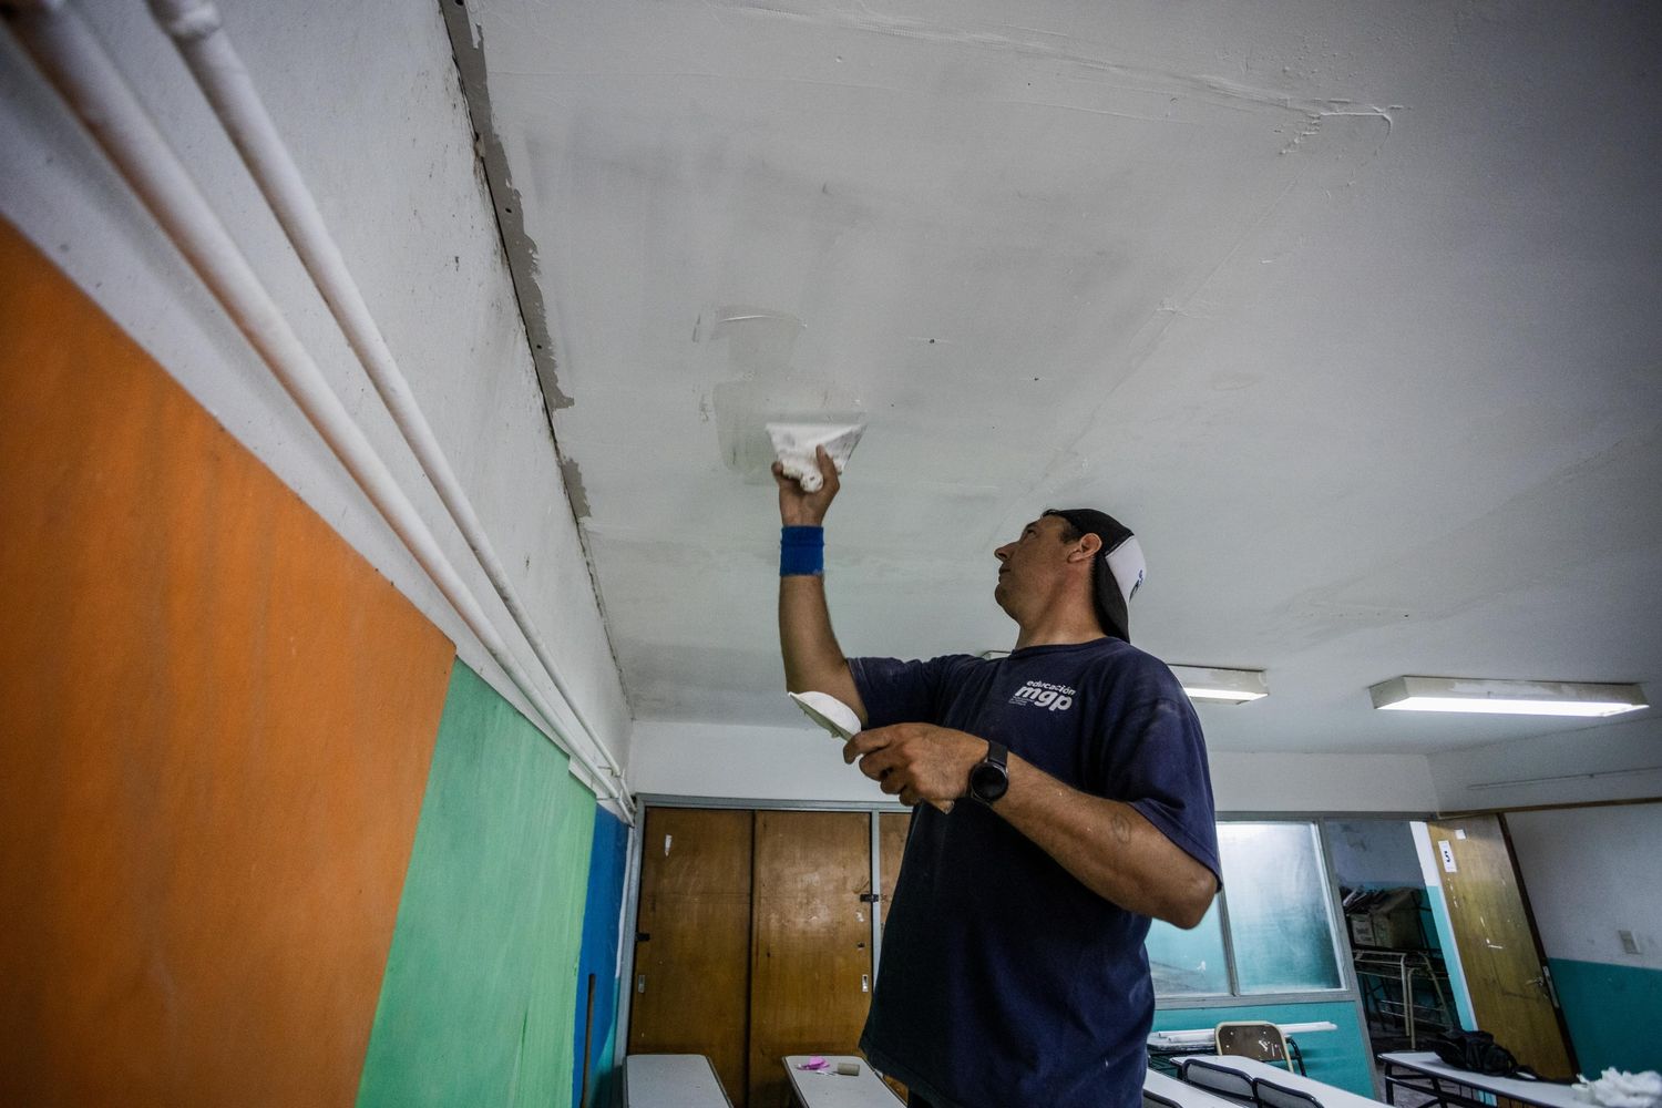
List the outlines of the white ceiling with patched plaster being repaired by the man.
{"label": "white ceiling with patched plaster being repaired by the man", "polygon": [[637,718],[798,723],[746,434],[849,407],[849,653],[1007,648],[992,548],[1094,505],[1138,645],[1268,669],[1215,748],[1586,726],[1371,711],[1404,673],[1662,694],[1655,5],[465,13]]}

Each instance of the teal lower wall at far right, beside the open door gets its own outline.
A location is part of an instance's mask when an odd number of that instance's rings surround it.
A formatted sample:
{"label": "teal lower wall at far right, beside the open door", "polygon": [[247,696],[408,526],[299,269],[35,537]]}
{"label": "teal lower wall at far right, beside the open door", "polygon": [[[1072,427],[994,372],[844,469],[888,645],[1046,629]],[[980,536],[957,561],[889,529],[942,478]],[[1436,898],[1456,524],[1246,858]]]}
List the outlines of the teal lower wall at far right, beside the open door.
{"label": "teal lower wall at far right, beside the open door", "polygon": [[1662,1070],[1662,970],[1571,958],[1547,965],[1582,1073]]}

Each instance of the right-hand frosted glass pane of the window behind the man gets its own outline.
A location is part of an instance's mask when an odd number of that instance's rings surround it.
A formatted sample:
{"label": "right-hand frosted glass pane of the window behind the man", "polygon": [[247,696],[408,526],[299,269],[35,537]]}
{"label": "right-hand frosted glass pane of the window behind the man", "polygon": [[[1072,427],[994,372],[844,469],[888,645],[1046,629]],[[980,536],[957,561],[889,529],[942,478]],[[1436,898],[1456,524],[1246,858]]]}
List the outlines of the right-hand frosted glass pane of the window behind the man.
{"label": "right-hand frosted glass pane of the window behind the man", "polygon": [[1218,824],[1242,993],[1341,988],[1313,824]]}

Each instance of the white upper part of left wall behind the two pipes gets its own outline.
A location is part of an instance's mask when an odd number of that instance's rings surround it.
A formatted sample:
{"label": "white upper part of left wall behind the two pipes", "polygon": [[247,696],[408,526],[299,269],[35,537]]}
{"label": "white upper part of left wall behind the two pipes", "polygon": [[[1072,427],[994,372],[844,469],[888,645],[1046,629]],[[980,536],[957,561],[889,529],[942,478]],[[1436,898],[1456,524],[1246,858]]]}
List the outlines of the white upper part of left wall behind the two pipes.
{"label": "white upper part of left wall behind the two pipes", "polygon": [[[452,563],[512,628],[145,5],[80,7]],[[219,7],[562,678],[622,761],[628,709],[437,5]],[[525,711],[10,35],[0,40],[0,214]],[[88,387],[96,387],[91,369]],[[527,648],[522,656],[535,666]]]}

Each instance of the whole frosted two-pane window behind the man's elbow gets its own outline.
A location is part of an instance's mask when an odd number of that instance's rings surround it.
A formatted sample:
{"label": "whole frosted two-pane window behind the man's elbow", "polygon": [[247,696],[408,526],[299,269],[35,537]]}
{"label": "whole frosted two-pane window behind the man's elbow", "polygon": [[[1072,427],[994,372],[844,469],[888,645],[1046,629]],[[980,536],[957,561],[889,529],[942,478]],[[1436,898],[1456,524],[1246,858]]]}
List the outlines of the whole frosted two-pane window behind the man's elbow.
{"label": "whole frosted two-pane window behind the man's elbow", "polygon": [[1223,892],[1193,930],[1155,920],[1155,995],[1250,997],[1345,987],[1321,841],[1310,822],[1218,824]]}

